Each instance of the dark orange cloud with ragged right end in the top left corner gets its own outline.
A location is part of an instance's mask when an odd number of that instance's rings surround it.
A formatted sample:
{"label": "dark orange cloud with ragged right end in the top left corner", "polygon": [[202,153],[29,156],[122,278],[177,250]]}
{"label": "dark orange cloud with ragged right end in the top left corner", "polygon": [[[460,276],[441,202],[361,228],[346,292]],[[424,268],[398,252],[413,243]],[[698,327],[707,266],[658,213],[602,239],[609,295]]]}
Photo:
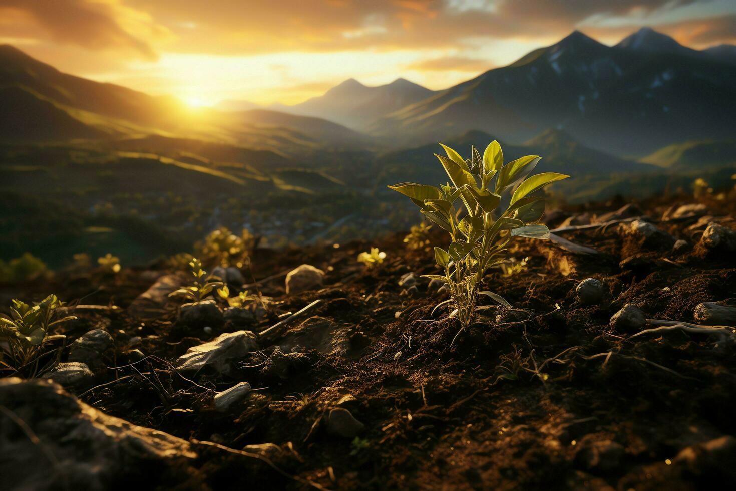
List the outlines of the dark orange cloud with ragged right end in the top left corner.
{"label": "dark orange cloud with ragged right end in the top left corner", "polygon": [[0,13],[32,21],[52,40],[87,49],[122,49],[146,60],[158,55],[147,39],[169,29],[118,0],[0,0]]}

